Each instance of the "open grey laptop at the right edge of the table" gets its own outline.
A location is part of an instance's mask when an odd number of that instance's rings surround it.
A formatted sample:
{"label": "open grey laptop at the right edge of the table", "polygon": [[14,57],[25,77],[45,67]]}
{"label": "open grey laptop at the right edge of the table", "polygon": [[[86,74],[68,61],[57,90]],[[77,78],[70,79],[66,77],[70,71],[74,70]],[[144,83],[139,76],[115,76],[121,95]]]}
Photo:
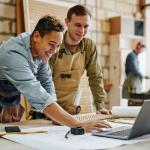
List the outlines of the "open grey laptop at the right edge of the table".
{"label": "open grey laptop at the right edge of the table", "polygon": [[109,131],[93,132],[94,136],[129,140],[150,133],[150,100],[144,101],[133,126],[116,127]]}

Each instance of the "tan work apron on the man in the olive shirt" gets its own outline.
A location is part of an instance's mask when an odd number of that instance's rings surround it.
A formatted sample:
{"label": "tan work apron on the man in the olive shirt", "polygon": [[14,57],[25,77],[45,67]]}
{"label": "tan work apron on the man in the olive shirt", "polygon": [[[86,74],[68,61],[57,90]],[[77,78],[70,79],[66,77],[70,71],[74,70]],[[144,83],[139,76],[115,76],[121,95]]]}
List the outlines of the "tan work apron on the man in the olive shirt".
{"label": "tan work apron on the man in the olive shirt", "polygon": [[59,53],[54,64],[54,84],[57,102],[70,114],[80,112],[80,106],[75,105],[81,76],[85,69],[85,51],[73,55]]}

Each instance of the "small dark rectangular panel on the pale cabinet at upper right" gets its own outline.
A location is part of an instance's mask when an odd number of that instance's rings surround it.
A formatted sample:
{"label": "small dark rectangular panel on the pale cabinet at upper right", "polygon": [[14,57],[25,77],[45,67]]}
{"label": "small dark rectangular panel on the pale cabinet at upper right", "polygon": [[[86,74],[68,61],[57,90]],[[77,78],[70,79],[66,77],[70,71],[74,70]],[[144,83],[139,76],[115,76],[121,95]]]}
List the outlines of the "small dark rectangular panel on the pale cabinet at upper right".
{"label": "small dark rectangular panel on the pale cabinet at upper right", "polygon": [[137,36],[143,36],[144,35],[144,21],[135,20],[135,22],[134,22],[134,34]]}

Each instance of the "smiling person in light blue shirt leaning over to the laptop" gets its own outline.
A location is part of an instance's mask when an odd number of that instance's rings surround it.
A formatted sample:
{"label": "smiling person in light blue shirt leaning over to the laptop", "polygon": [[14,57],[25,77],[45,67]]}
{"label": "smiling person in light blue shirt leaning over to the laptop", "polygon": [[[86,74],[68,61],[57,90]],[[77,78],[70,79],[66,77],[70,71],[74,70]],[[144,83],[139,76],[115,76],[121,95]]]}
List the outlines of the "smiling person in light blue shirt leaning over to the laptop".
{"label": "smiling person in light blue shirt leaning over to the laptop", "polygon": [[63,25],[52,16],[41,18],[33,33],[22,33],[0,46],[0,122],[20,121],[20,94],[31,107],[69,127],[85,131],[110,127],[105,122],[74,119],[56,103],[48,59],[59,50]]}

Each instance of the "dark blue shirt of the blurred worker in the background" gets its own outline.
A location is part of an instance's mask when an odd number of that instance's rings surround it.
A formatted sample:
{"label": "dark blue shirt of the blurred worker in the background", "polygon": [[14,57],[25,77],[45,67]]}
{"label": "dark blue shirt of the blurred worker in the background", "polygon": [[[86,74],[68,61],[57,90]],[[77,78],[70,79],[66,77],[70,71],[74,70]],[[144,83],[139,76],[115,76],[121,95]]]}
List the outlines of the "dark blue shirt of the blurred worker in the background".
{"label": "dark blue shirt of the blurred worker in the background", "polygon": [[143,78],[143,75],[139,69],[138,54],[134,50],[131,53],[129,53],[129,55],[126,58],[125,72],[126,75],[128,75],[129,73],[133,73],[140,79]]}

